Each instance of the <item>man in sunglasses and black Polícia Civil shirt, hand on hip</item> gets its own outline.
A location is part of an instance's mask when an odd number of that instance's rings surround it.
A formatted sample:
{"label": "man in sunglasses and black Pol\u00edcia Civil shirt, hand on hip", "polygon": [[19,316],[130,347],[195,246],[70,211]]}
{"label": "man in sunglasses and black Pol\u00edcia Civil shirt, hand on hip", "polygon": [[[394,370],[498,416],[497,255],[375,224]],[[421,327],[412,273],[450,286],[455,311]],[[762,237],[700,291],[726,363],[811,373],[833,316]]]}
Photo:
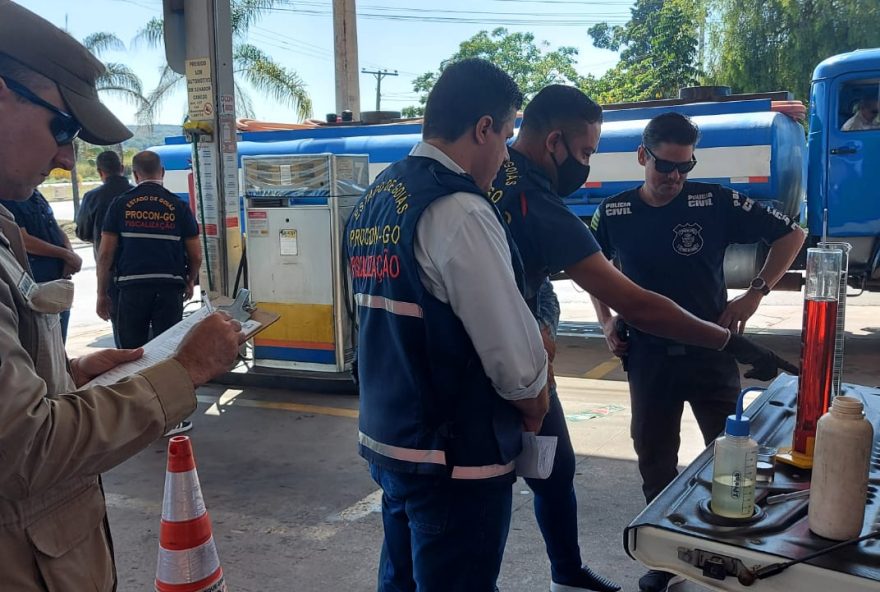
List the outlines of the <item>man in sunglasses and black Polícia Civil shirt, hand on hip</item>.
{"label": "man in sunglasses and black Pol\u00edcia Civil shirt, hand on hip", "polygon": [[[697,126],[679,113],[664,113],[648,122],[638,148],[644,184],[602,202],[592,228],[605,255],[616,258],[627,277],[738,336],[797,256],[804,232],[788,216],[736,191],[688,181],[688,173],[697,166],[698,139]],[[751,287],[728,301],[727,247],[759,241],[770,245],[766,263]],[[630,431],[642,490],[650,503],[678,473],[684,402],[690,404],[708,445],[734,412],[739,369],[727,352],[687,347],[678,339],[658,339],[636,330],[623,342],[609,307],[629,321],[627,314],[614,302],[594,304],[610,349],[628,358]],[[651,570],[639,580],[639,588],[665,590],[671,578],[671,573]]]}

